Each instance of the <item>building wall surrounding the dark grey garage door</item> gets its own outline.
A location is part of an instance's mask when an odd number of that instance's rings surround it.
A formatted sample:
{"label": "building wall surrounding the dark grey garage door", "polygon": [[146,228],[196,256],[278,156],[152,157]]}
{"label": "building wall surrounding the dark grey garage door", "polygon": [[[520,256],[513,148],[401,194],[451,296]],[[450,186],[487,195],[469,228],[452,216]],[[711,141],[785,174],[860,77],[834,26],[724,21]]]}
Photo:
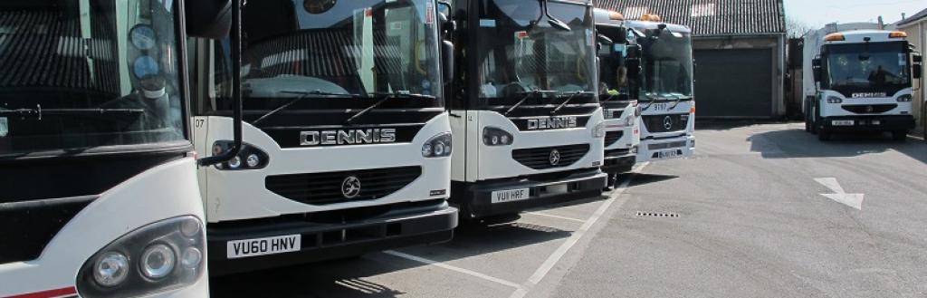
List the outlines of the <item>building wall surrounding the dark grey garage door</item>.
{"label": "building wall surrounding the dark grey garage door", "polygon": [[[726,49],[772,49],[772,107],[770,115],[773,118],[785,116],[785,34],[767,34],[755,36],[695,36],[692,39],[692,48],[695,50],[726,50]],[[695,61],[698,63],[698,61]],[[698,80],[698,78],[695,78]],[[696,96],[698,90],[695,90]]]}

